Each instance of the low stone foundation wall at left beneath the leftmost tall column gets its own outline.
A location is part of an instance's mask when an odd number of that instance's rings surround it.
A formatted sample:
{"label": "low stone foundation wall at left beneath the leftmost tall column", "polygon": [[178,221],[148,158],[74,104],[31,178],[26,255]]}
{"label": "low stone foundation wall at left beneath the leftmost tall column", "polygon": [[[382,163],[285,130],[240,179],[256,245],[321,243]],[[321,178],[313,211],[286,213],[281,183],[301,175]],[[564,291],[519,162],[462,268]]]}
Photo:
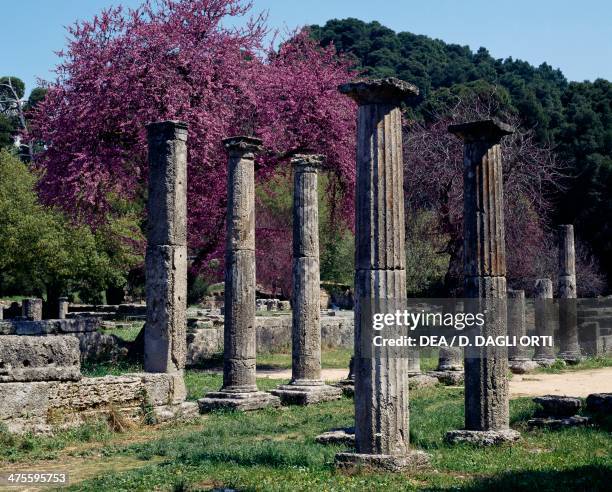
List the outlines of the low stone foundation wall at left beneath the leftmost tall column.
{"label": "low stone foundation wall at left beneath the leftmost tall column", "polygon": [[116,413],[141,421],[197,415],[197,405],[185,402],[185,396],[180,374],[137,373],[70,382],[2,383],[0,423],[10,432],[50,433]]}

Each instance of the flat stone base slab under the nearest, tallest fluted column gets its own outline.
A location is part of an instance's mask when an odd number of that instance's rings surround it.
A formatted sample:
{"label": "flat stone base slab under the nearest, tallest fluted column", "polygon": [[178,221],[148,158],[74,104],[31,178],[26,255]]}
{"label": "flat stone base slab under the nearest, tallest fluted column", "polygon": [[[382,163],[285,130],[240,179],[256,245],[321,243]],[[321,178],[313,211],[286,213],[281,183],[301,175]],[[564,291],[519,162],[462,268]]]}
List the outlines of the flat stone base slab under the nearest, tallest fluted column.
{"label": "flat stone base slab under the nearest, tallest fluted column", "polygon": [[404,455],[338,453],[335,466],[342,471],[359,469],[372,471],[400,472],[420,470],[429,467],[429,455],[424,451],[410,450]]}

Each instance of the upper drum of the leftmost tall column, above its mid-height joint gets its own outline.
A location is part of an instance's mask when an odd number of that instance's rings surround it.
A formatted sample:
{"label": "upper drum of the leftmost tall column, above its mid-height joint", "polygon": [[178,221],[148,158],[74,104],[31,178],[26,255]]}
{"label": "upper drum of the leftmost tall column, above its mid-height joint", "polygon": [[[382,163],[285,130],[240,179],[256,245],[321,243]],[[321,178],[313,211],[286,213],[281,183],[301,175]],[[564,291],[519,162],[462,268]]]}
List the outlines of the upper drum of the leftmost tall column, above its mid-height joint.
{"label": "upper drum of the leftmost tall column, above its mid-height joint", "polygon": [[149,246],[187,244],[187,124],[147,125],[149,144]]}

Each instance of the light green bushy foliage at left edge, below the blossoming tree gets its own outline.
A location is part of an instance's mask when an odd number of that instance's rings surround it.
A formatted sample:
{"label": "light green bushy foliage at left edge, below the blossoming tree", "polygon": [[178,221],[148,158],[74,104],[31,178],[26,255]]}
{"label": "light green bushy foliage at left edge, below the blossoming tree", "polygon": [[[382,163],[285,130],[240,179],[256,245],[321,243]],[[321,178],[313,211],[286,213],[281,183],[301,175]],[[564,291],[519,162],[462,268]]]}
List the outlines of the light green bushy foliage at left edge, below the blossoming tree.
{"label": "light green bushy foliage at left edge, below the blossoming tree", "polygon": [[[78,291],[99,301],[109,285],[125,282],[136,261],[128,245],[129,215],[93,232],[38,203],[36,176],[7,151],[0,152],[0,292],[57,297]],[[126,218],[127,217],[127,218]]]}

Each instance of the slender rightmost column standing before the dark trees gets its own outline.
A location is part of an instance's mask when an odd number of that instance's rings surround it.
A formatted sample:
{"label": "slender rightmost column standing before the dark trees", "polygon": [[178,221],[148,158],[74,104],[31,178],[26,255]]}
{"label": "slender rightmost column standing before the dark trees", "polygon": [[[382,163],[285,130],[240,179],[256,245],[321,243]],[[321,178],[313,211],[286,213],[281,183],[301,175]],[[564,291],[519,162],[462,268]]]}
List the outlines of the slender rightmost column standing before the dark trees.
{"label": "slender rightmost column standing before the dark trees", "polygon": [[574,226],[559,226],[559,358],[568,364],[580,362],[576,308],[576,250]]}

